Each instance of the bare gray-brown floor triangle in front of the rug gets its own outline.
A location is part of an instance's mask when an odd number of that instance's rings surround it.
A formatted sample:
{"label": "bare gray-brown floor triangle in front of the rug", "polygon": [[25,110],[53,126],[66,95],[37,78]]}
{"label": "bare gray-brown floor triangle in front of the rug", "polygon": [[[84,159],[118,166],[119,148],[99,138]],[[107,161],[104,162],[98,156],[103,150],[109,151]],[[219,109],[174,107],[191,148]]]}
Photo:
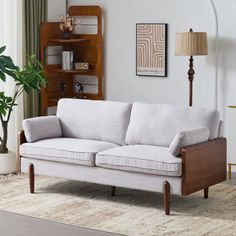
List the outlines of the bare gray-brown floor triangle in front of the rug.
{"label": "bare gray-brown floor triangle in front of the rug", "polygon": [[117,236],[52,221],[0,211],[1,236]]}

